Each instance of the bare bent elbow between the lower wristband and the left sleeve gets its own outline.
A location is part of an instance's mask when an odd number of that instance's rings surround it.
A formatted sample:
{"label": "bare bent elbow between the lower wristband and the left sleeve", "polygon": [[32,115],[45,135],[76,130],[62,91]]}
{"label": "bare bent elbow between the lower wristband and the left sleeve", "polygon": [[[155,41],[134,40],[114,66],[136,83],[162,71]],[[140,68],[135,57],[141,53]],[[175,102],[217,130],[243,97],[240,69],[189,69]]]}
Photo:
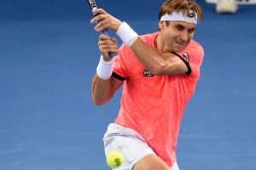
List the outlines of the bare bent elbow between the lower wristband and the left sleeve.
{"label": "bare bent elbow between the lower wristband and the left sleeve", "polygon": [[110,77],[103,80],[97,74],[92,80],[92,100],[96,105],[104,105],[108,103],[109,99],[119,89],[123,81],[115,77]]}

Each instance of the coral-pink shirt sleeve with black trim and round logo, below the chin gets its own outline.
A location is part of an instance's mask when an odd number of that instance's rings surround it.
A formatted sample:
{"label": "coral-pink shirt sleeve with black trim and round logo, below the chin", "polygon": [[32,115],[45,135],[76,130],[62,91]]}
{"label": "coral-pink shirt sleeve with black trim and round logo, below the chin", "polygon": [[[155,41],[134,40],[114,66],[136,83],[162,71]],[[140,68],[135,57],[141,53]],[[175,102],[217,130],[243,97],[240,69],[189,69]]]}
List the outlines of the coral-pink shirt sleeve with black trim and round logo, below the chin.
{"label": "coral-pink shirt sleeve with black trim and round logo, below the chin", "polygon": [[198,42],[190,42],[187,48],[177,53],[177,56],[188,66],[187,75],[189,77],[200,77],[204,49]]}

